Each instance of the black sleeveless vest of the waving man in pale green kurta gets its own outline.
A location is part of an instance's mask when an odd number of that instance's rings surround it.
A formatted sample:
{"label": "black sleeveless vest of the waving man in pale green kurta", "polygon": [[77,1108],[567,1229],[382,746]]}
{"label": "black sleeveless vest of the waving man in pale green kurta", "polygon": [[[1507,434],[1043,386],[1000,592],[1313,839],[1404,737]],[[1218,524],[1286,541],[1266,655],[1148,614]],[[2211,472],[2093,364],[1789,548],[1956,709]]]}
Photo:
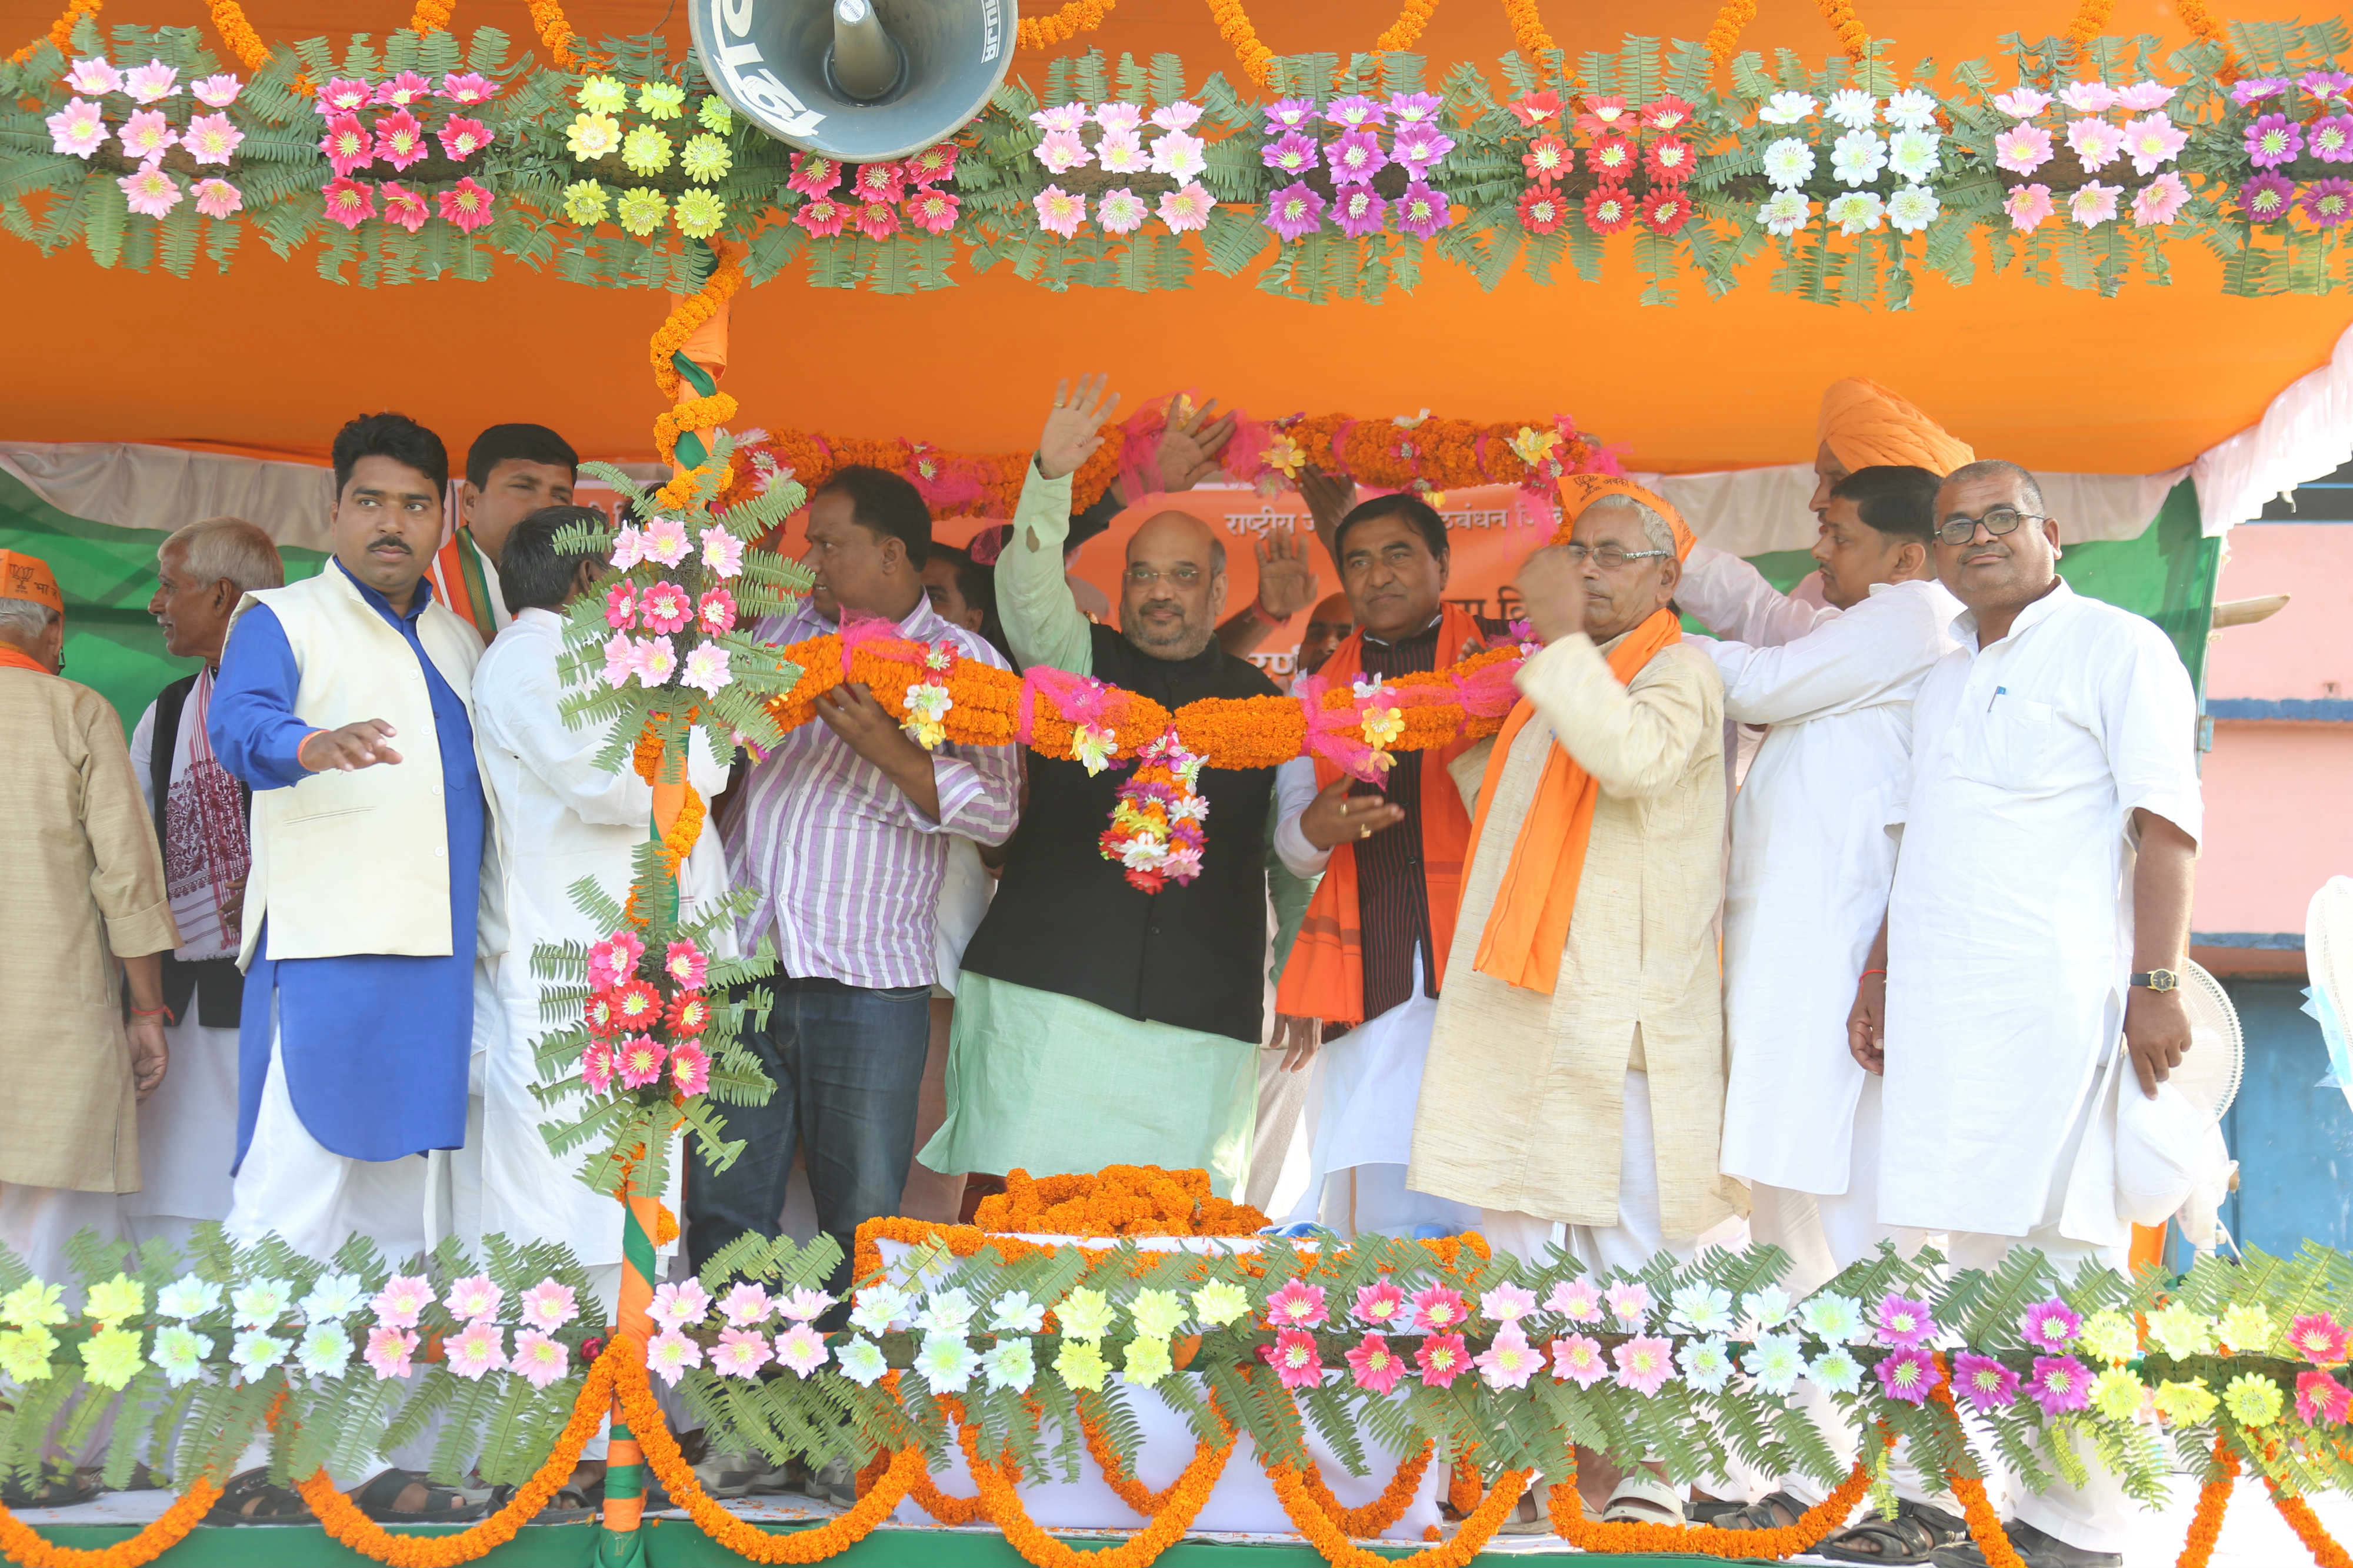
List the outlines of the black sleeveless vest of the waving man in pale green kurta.
{"label": "black sleeveless vest of the waving man in pale green kurta", "polygon": [[[1139,654],[1092,628],[1094,677],[1169,710],[1209,696],[1275,696],[1247,658],[1212,642],[1186,661]],[[965,969],[1092,1001],[1127,1018],[1259,1044],[1266,1020],[1266,809],[1273,769],[1202,769],[1209,802],[1200,877],[1158,893],[1127,886],[1096,839],[1127,769],[1094,778],[1066,757],[1028,757],[1031,797],[1005,879],[965,947]]]}

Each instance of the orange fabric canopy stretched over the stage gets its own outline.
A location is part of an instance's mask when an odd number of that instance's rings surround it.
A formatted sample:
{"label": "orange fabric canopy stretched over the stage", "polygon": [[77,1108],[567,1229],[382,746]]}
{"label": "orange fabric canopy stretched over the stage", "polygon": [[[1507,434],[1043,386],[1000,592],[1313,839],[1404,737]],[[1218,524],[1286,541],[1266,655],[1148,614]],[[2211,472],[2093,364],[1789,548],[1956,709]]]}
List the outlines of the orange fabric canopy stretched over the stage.
{"label": "orange fabric canopy stretched over the stage", "polygon": [[[16,9],[31,35],[45,16]],[[47,9],[47,0],[40,9]],[[661,7],[574,0],[588,38],[642,33]],[[1035,7],[1031,7],[1035,9]],[[1257,0],[1278,52],[1360,49],[1388,24],[1367,5]],[[2002,33],[2064,31],[2073,7],[1861,0],[1894,59],[2000,59]],[[2235,5],[2238,19],[2289,5]],[[1553,0],[1546,26],[1574,52],[1640,35],[1701,38],[1713,0]],[[266,40],[384,33],[407,0],[259,0]],[[108,24],[202,24],[198,0],[108,0]],[[518,0],[461,0],[454,26],[529,38]],[[668,31],[685,47],[685,24]],[[2111,33],[2184,42],[2158,0],[2120,0]],[[1125,0],[1085,42],[1146,56],[1176,49],[1198,85],[1238,75],[1202,0]],[[1762,0],[1744,45],[1824,56],[1831,33],[1809,0]],[[1066,45],[1059,52],[1075,52]],[[1492,71],[1511,47],[1499,0],[1447,0],[1421,38],[1431,78],[1468,59]],[[1014,71],[1042,80],[1045,56]],[[2005,66],[1995,66],[2009,80]],[[1485,294],[1431,259],[1421,287],[1308,306],[1252,277],[1202,273],[1191,292],[1047,294],[998,268],[915,296],[814,294],[793,273],[734,306],[727,390],[744,425],[906,435],[962,449],[1019,449],[1059,374],[1108,369],[1129,400],[1191,386],[1254,414],[1365,416],[1433,409],[1464,418],[1541,418],[1624,442],[1659,470],[1802,461],[1821,390],[1868,376],[1932,414],[1981,456],[2075,473],[2151,473],[2186,463],[2254,423],[2299,374],[2325,362],[2353,322],[2346,299],[2226,299],[2205,247],[2169,252],[2174,284],[2127,282],[2120,299],[1995,277],[1969,287],[1922,273],[1913,310],[1805,306],[1769,289],[1758,263],[1725,299],[1685,280],[1682,303],[1640,308],[1631,235],[1609,242],[1607,282]],[[492,282],[355,289],[322,282],[308,256],[278,261],[247,235],[226,277],[101,270],[87,254],[42,259],[0,237],[0,296],[16,301],[16,376],[0,400],[14,440],[207,440],[318,454],[353,411],[395,407],[464,444],[513,418],[562,430],[598,456],[652,456],[661,397],[645,341],[666,301],[586,289],[501,261]],[[1565,374],[1565,364],[1577,364]]]}

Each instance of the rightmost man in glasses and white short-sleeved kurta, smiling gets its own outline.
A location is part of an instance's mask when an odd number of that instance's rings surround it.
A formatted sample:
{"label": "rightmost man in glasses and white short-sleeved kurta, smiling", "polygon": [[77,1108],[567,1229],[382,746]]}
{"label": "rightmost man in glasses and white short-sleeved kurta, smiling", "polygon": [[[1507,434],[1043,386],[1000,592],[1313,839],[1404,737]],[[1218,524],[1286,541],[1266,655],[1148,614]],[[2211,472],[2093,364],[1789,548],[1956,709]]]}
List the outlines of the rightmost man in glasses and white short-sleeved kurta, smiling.
{"label": "rightmost man in glasses and white short-sleeved kurta, smiling", "polygon": [[[1958,468],[1937,517],[1937,576],[1967,614],[1913,705],[1904,844],[1849,1041],[1885,1074],[1880,1218],[1948,1232],[1955,1267],[2024,1246],[2068,1279],[2125,1265],[2115,1105],[2155,1098],[2191,1044],[2169,987],[2198,705],[2153,623],[2059,581],[2059,522],[2024,468]],[[2129,1505],[2097,1462],[2085,1486],[2012,1502],[2028,1568],[2122,1563]],[[1986,1563],[1967,1542],[1932,1561]]]}

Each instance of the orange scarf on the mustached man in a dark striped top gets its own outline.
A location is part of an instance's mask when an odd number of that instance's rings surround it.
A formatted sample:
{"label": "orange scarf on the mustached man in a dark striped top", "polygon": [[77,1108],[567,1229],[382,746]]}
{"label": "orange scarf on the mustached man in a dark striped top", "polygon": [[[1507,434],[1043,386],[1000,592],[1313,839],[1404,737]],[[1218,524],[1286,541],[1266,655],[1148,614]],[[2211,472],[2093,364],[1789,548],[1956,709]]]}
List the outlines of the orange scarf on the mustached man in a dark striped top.
{"label": "orange scarf on the mustached man in a dark striped top", "polygon": [[[1482,637],[1478,621],[1452,604],[1438,618],[1438,665],[1461,661],[1464,649],[1478,651]],[[1332,649],[1332,658],[1318,670],[1332,684],[1353,682],[1365,663],[1365,632]],[[1421,752],[1421,886],[1431,903],[1431,976],[1433,990],[1447,973],[1447,952],[1454,945],[1454,912],[1461,907],[1464,867],[1471,865],[1466,846],[1471,842],[1471,813],[1464,811],[1461,790],[1447,773],[1447,764],[1471,750],[1471,741]],[[1322,757],[1315,759],[1315,788],[1327,790],[1339,778],[1339,769]],[[1322,1018],[1325,1023],[1365,1023],[1365,917],[1358,903],[1355,844],[1332,846],[1332,860],[1315,886],[1308,914],[1299,924],[1292,957],[1282,964],[1282,985],[1275,990],[1275,1009],[1292,1018]]]}

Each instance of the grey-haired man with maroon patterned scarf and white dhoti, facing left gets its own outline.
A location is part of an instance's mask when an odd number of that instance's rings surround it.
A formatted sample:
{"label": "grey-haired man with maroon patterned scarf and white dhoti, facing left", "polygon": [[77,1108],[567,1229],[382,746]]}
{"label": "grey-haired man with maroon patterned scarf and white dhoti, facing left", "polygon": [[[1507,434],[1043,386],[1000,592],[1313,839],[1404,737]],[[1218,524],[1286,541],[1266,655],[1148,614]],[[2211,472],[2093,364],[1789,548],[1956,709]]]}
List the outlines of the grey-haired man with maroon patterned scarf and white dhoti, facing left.
{"label": "grey-haired man with maroon patterned scarf and white dhoti, facing left", "polygon": [[285,581],[278,545],[242,517],[191,522],[155,550],[148,614],[162,628],[165,654],[205,663],[165,686],[132,731],[132,773],[155,820],[165,893],[179,926],[179,947],[162,957],[172,1077],[139,1105],[146,1182],[122,1199],[122,1227],[141,1246],[186,1248],[202,1220],[228,1218],[245,994],[238,943],[254,795],[212,755],[205,719],[238,599]]}

